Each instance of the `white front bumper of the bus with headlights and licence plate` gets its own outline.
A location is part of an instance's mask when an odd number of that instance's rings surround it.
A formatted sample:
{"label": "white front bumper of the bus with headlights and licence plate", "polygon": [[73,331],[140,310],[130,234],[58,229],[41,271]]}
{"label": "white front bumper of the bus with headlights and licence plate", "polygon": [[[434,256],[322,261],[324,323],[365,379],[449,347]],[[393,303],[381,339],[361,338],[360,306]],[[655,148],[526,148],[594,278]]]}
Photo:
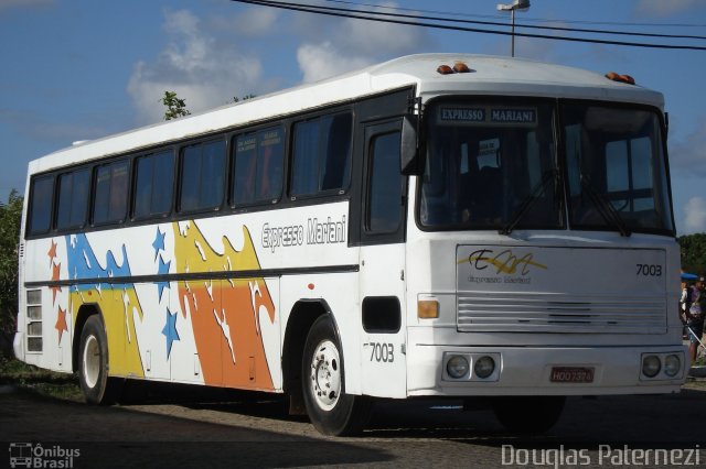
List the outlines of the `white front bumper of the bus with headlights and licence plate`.
{"label": "white front bumper of the bus with headlights and licence plate", "polygon": [[[678,392],[686,347],[409,346],[409,396]],[[466,370],[466,371],[464,371]]]}

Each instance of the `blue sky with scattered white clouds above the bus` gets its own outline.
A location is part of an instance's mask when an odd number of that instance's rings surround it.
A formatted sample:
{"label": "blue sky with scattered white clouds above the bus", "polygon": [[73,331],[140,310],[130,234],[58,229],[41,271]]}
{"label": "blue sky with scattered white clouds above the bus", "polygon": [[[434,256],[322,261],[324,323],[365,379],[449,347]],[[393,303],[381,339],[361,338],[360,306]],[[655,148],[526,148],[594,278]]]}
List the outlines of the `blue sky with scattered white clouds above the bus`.
{"label": "blue sky with scattered white clouds above the bus", "polygon": [[[399,7],[510,21],[492,0],[351,1],[385,12]],[[704,36],[706,0],[532,0],[528,11],[516,14],[516,31],[537,32],[523,29],[523,22]],[[704,40],[657,42],[706,46]],[[510,37],[228,0],[0,0],[0,200],[13,188],[24,193],[31,160],[74,141],[160,121],[165,90],[176,91],[192,112],[201,112],[233,97],[260,96],[427,52],[507,56]],[[516,37],[515,55],[629,74],[638,85],[663,92],[677,234],[706,232],[706,51]]]}

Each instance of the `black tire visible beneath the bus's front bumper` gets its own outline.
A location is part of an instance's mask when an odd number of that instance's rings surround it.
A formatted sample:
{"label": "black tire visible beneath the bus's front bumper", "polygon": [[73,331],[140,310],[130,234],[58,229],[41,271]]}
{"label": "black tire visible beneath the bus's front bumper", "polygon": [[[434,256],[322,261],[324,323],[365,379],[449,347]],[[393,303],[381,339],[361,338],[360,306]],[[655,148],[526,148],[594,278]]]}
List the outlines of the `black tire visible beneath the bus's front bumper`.
{"label": "black tire visible beneath the bus's front bumper", "polygon": [[512,433],[541,434],[552,428],[564,410],[565,396],[495,397],[493,412]]}

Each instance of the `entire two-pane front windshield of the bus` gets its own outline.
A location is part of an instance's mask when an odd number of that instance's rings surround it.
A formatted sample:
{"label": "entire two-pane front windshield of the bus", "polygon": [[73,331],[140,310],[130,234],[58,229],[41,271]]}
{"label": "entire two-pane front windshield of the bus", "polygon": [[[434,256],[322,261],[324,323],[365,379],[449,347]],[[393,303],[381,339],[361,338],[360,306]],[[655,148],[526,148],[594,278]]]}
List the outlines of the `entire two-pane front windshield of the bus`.
{"label": "entire two-pane front windshield of the bus", "polygon": [[573,229],[672,233],[656,112],[589,103],[559,109],[561,149],[549,102],[430,107],[420,225],[563,229],[566,211]]}

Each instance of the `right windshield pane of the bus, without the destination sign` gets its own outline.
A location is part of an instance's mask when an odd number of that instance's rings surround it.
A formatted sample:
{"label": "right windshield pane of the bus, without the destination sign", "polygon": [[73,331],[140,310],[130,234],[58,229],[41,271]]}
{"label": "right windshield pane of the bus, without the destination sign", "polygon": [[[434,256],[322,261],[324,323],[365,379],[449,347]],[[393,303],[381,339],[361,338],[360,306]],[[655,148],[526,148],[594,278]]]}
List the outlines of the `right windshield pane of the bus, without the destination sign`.
{"label": "right windshield pane of the bus, without the destination sign", "polygon": [[564,132],[571,227],[674,231],[654,111],[566,105]]}

